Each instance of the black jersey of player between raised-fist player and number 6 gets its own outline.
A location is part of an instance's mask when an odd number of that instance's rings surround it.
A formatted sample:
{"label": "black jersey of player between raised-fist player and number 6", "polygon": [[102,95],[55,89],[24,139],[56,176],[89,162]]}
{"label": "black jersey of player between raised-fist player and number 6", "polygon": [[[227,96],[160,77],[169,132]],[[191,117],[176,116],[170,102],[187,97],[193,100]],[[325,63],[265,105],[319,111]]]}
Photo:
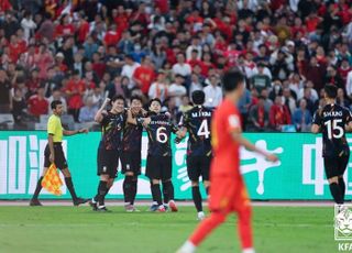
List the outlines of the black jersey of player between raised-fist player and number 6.
{"label": "black jersey of player between raised-fist player and number 6", "polygon": [[123,128],[123,151],[141,152],[142,133],[143,133],[143,127],[140,122],[138,122],[138,124],[125,123]]}

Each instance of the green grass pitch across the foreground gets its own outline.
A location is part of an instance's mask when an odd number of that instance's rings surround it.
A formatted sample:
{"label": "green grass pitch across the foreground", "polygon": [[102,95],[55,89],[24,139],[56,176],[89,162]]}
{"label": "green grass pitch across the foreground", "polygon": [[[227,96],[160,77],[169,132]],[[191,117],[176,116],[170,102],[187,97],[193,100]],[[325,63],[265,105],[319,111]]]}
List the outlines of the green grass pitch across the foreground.
{"label": "green grass pitch across the foreground", "polygon": [[[0,207],[1,253],[168,253],[197,226],[193,207],[177,213],[97,213],[89,207]],[[254,240],[258,253],[331,253],[333,208],[255,207]],[[240,252],[234,216],[199,248]]]}

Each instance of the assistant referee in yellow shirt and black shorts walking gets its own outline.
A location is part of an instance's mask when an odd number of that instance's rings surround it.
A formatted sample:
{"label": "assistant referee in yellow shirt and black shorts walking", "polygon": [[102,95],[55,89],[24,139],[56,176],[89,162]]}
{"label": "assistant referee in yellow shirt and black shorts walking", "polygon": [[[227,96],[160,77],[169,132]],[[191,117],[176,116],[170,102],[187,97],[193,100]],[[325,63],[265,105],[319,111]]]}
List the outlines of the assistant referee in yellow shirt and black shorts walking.
{"label": "assistant referee in yellow shirt and black shorts walking", "polygon": [[36,184],[34,195],[30,201],[30,206],[42,206],[37,197],[42,190],[43,177],[46,170],[48,169],[48,167],[51,166],[51,164],[53,163],[64,174],[65,184],[70,193],[74,205],[79,206],[81,204],[87,202],[88,199],[78,198],[76,195],[74,183],[68,169],[65,155],[64,155],[62,142],[63,142],[63,135],[70,136],[78,133],[88,133],[88,129],[80,129],[78,131],[68,131],[63,129],[62,121],[61,121],[61,116],[64,112],[62,101],[54,100],[51,103],[51,107],[53,110],[53,114],[48,118],[48,121],[47,121],[47,144],[44,151],[44,169],[41,178]]}

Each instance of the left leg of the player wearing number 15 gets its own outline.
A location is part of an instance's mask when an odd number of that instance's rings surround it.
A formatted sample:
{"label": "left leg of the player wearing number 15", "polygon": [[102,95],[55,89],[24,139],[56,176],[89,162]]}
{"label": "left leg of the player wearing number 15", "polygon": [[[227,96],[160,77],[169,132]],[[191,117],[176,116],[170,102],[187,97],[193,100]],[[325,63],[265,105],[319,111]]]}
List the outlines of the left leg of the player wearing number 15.
{"label": "left leg of the player wearing number 15", "polygon": [[329,182],[329,188],[330,188],[330,193],[332,195],[332,198],[336,204],[342,205],[343,198],[342,198],[341,188],[339,186],[340,173],[338,172],[337,161],[336,161],[336,158],[324,157],[323,164],[324,164],[326,175],[327,175],[327,178]]}

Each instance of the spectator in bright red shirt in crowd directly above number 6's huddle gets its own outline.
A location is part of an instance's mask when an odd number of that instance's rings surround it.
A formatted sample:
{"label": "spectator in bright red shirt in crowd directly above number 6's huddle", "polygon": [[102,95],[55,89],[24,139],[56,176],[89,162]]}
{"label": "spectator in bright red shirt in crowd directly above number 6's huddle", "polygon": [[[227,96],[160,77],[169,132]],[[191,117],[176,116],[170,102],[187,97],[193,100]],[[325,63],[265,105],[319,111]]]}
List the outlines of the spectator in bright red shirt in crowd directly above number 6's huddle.
{"label": "spectator in bright red shirt in crowd directly above number 6's huddle", "polygon": [[142,65],[139,66],[133,73],[133,80],[135,85],[142,90],[144,95],[147,95],[152,82],[155,79],[155,73],[152,67],[150,56],[142,58]]}

